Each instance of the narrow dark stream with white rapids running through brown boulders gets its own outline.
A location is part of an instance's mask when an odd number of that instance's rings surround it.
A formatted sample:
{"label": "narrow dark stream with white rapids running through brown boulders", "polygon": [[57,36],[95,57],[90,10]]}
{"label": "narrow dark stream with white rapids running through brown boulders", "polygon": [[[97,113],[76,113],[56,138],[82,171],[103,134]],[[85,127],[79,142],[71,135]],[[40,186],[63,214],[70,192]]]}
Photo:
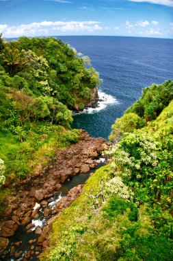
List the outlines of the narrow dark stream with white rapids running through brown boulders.
{"label": "narrow dark stream with white rapids running through brown boulders", "polygon": [[[60,201],[62,197],[66,196],[72,188],[76,187],[77,185],[84,184],[92,172],[98,168],[101,168],[101,166],[105,164],[105,158],[103,157],[99,157],[97,161],[98,166],[94,170],[90,170],[87,173],[78,174],[71,177],[67,181],[64,181],[64,183],[62,183],[62,187],[57,192],[55,192],[51,198],[46,200],[48,202],[46,208],[53,209],[58,201]],[[3,258],[3,260],[38,260],[38,256],[42,252],[42,247],[37,245],[37,240],[40,234],[36,234],[35,232],[38,227],[42,228],[46,226],[46,221],[52,217],[52,215],[49,214],[48,216],[44,216],[44,207],[42,207],[40,203],[36,203],[33,209],[39,209],[37,218],[33,218],[31,220],[31,227],[29,229],[27,225],[20,225],[18,227],[18,230],[14,236],[10,238],[8,253],[6,254],[5,258]],[[28,256],[29,259],[27,259],[27,253],[29,252],[31,257],[29,258]]]}

